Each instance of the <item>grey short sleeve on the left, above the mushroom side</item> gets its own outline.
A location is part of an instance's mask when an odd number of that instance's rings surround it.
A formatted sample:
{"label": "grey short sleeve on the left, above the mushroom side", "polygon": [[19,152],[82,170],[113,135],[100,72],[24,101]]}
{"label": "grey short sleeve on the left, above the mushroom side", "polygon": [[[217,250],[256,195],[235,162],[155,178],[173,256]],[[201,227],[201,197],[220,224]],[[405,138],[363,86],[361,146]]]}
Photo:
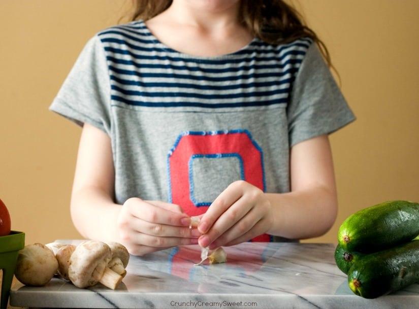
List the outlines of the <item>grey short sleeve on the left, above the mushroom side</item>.
{"label": "grey short sleeve on the left, above the mushroom side", "polygon": [[110,133],[110,81],[106,56],[100,39],[89,40],[50,110],[78,125],[89,123]]}

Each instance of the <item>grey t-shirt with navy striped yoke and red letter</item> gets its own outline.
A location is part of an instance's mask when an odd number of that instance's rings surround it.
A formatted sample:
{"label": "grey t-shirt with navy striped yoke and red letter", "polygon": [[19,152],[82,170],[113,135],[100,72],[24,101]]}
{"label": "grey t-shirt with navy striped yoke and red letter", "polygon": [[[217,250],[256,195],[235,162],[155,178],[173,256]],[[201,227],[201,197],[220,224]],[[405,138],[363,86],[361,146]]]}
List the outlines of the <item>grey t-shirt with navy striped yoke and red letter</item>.
{"label": "grey t-shirt with navy striped yoke and red letter", "polygon": [[354,120],[309,39],[197,57],[142,21],[94,36],[50,109],[110,136],[116,202],[170,201],[189,215],[235,180],[288,192],[289,149]]}

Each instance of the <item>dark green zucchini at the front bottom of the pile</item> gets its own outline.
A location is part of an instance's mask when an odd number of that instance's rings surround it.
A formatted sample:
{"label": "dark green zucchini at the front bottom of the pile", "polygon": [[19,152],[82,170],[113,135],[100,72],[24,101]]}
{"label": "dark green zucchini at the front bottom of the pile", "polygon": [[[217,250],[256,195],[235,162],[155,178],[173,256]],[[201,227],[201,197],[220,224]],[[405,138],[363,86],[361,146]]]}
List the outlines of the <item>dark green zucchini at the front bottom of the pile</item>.
{"label": "dark green zucchini at the front bottom of the pile", "polygon": [[419,281],[419,241],[365,255],[348,271],[353,293],[376,298]]}

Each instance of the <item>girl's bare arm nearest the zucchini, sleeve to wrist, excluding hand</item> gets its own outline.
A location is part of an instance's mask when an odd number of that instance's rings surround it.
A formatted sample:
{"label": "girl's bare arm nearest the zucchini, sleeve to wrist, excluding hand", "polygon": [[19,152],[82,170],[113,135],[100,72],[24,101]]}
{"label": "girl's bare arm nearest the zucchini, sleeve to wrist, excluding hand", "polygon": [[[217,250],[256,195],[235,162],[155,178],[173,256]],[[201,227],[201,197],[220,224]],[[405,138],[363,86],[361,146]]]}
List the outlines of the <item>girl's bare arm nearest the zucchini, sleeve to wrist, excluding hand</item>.
{"label": "girl's bare arm nearest the zucchini, sleeve to wrist, excluding hand", "polygon": [[328,135],[291,149],[291,192],[268,198],[276,219],[269,233],[302,239],[323,235],[332,227],[338,201]]}

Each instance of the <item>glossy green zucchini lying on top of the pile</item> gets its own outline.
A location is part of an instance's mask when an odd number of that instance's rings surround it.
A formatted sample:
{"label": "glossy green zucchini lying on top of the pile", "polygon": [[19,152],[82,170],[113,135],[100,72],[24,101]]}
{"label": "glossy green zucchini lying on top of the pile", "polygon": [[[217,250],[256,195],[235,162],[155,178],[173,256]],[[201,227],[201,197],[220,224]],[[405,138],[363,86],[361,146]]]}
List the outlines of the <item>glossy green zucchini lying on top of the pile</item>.
{"label": "glossy green zucchini lying on top of the pile", "polygon": [[343,221],[339,245],[372,253],[411,241],[419,234],[419,203],[393,200],[360,210]]}

